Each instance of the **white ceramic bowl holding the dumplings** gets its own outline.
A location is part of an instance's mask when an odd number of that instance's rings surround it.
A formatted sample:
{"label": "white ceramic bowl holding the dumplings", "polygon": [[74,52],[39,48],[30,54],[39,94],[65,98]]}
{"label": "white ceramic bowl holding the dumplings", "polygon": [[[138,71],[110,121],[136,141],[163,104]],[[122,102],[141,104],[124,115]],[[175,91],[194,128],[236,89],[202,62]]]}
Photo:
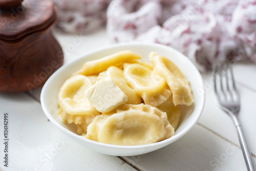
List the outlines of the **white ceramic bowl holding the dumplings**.
{"label": "white ceramic bowl holding the dumplings", "polygon": [[[146,56],[148,53],[154,51],[158,54],[165,56],[172,60],[183,72],[186,78],[190,81],[191,89],[193,90],[195,105],[189,108],[182,108],[182,117],[178,129],[175,135],[152,144],[146,145],[112,145],[105,144],[96,141],[92,141],[76,134],[74,125],[63,124],[57,115],[58,110],[58,92],[63,82],[68,79],[72,73],[79,70],[84,62],[101,58],[118,51],[131,50],[142,56]],[[202,77],[194,66],[194,64],[182,53],[175,49],[169,48],[159,44],[148,44],[142,42],[129,42],[123,44],[115,44],[108,47],[104,47],[83,55],[80,58],[62,66],[58,69],[45,83],[44,88],[41,91],[41,105],[42,110],[45,112],[49,120],[65,135],[75,142],[81,144],[84,147],[90,148],[93,151],[113,155],[113,156],[134,156],[142,155],[148,152],[155,151],[162,148],[185,135],[191,127],[199,119],[205,101],[205,93]]]}

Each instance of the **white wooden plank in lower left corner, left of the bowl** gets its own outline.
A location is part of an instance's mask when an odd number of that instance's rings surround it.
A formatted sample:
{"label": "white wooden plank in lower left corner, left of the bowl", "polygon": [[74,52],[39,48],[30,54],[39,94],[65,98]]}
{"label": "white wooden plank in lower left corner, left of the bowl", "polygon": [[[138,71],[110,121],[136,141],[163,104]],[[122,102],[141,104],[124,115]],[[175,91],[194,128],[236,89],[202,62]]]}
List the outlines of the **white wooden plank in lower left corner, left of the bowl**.
{"label": "white wooden plank in lower left corner, left of the bowl", "polygon": [[0,94],[0,130],[9,114],[9,167],[4,170],[136,170],[120,158],[99,154],[72,141],[42,112],[38,102],[25,94]]}

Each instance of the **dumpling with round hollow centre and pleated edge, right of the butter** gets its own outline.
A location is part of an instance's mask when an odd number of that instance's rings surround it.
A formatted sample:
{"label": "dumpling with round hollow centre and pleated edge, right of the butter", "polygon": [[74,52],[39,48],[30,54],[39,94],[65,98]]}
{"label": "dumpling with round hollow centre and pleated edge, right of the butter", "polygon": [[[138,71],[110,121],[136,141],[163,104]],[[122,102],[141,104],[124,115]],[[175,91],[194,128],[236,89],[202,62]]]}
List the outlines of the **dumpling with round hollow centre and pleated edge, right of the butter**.
{"label": "dumpling with round hollow centre and pleated edge, right of the butter", "polygon": [[138,63],[125,66],[124,78],[127,84],[141,96],[145,104],[157,106],[171,94],[165,79]]}

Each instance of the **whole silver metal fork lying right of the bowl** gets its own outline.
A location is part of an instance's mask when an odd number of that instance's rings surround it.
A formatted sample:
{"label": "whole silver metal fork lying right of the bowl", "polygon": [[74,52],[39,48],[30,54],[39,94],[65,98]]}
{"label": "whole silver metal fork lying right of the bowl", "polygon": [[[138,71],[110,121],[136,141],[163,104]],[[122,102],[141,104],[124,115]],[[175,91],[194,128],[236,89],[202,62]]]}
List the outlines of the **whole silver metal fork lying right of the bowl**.
{"label": "whole silver metal fork lying right of the bowl", "polygon": [[234,82],[232,67],[228,63],[215,64],[213,67],[214,90],[221,108],[233,119],[239,136],[247,170],[255,171],[251,153],[238,118],[240,97]]}

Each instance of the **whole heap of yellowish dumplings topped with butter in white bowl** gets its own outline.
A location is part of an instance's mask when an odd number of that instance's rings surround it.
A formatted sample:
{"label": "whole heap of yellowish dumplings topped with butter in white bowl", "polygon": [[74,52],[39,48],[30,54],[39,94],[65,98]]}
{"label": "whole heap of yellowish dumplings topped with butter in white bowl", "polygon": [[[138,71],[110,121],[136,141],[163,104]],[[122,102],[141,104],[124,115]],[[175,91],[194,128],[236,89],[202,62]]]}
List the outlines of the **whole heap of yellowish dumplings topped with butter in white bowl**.
{"label": "whole heap of yellowish dumplings topped with butter in white bowl", "polygon": [[58,114],[77,134],[108,144],[142,145],[174,135],[189,82],[168,58],[120,51],[85,62],[59,90]]}

